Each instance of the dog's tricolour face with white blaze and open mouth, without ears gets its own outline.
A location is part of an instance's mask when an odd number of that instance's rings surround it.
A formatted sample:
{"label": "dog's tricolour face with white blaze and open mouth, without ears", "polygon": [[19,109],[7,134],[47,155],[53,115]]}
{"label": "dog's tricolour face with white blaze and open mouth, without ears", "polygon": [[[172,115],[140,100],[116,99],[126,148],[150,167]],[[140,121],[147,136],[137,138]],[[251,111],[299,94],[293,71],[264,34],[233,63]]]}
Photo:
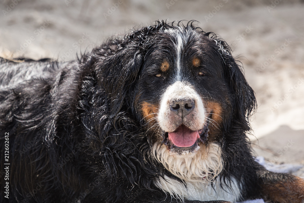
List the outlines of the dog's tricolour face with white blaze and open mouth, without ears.
{"label": "dog's tricolour face with white blaze and open mouth, without ears", "polygon": [[174,153],[195,153],[217,141],[223,111],[231,110],[222,56],[216,41],[196,30],[154,37],[140,78],[142,116],[155,142]]}

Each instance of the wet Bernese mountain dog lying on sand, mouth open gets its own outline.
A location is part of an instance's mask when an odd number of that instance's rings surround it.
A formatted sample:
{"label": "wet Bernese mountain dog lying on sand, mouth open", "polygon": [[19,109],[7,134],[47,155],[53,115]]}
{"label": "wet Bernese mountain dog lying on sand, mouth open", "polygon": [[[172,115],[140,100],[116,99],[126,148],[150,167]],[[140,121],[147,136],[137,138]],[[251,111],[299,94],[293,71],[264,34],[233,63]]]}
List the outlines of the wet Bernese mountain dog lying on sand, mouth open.
{"label": "wet Bernese mountain dog lying on sand, mouth open", "polygon": [[189,21],[112,37],[74,61],[0,59],[1,202],[304,202],[259,165],[254,91]]}

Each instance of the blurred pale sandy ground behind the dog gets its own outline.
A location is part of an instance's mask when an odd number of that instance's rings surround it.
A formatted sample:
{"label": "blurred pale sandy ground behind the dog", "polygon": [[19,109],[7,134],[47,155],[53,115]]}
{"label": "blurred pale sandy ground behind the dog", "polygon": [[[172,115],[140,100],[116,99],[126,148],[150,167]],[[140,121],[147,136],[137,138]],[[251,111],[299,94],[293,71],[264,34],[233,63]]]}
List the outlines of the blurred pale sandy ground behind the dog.
{"label": "blurred pale sandy ground behind the dog", "polygon": [[4,58],[71,60],[158,19],[199,21],[231,46],[256,93],[255,153],[304,164],[303,0],[1,0],[0,11]]}

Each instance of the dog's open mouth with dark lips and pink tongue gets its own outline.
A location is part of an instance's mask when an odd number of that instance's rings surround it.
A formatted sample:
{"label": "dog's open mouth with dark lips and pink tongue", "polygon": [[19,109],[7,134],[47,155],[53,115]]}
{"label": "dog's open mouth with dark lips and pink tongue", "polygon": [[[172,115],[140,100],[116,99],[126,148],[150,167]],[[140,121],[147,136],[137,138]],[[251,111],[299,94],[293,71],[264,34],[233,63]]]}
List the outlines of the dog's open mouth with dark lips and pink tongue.
{"label": "dog's open mouth with dark lips and pink tongue", "polygon": [[208,126],[206,122],[204,128],[198,131],[192,131],[181,124],[174,132],[164,132],[162,143],[173,151],[193,151],[199,143],[206,143],[208,140]]}

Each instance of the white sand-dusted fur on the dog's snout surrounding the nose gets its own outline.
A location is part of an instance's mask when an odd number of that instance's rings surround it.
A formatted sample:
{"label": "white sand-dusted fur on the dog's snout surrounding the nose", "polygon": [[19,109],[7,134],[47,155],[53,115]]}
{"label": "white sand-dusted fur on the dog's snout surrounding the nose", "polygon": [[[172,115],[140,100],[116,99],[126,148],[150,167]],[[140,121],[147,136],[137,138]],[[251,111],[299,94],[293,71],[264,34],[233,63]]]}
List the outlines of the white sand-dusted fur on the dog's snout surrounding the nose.
{"label": "white sand-dusted fur on the dog's snout surrounding the nose", "polygon": [[[178,117],[170,110],[170,102],[172,99],[192,99],[194,100],[194,109],[183,118]],[[185,82],[176,81],[169,86],[161,99],[160,109],[158,111],[158,123],[166,132],[173,132],[183,123],[193,131],[200,130],[206,122],[205,109],[199,94],[192,86]],[[177,121],[180,119],[180,121]]]}

